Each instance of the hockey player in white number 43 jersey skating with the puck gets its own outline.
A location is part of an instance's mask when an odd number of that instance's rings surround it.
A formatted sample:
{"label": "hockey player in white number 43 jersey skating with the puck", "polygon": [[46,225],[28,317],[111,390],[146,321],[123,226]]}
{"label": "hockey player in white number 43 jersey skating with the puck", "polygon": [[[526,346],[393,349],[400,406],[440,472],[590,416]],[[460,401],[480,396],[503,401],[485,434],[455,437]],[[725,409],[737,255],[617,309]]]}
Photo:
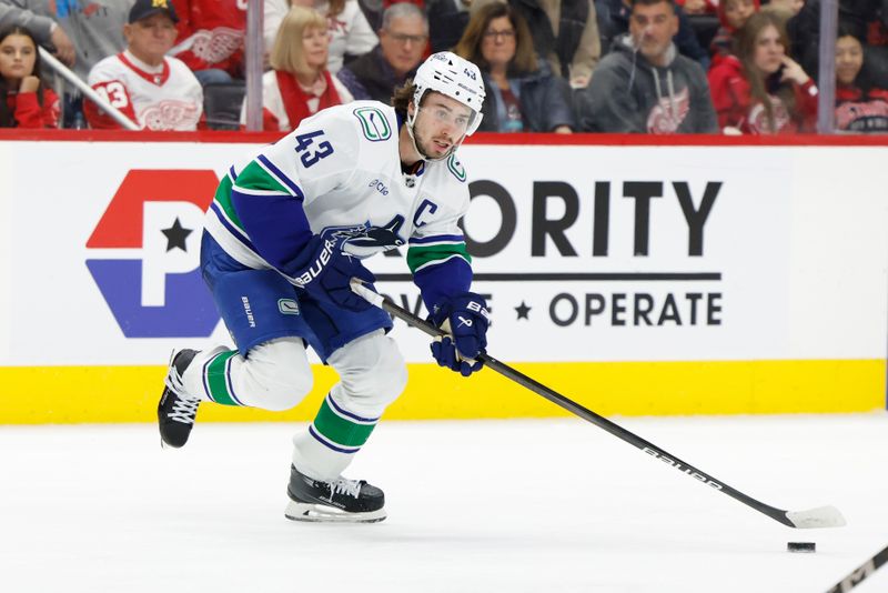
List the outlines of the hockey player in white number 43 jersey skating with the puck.
{"label": "hockey player in white number 43 jersey skating with the puck", "polygon": [[406,245],[443,366],[470,375],[486,345],[484,299],[470,292],[471,258],[457,221],[468,208],[455,151],[481,122],[475,64],[431,56],[394,108],[357,101],[325,109],[231,167],[206,213],[201,268],[236,350],[175,352],[158,406],[163,443],[182,446],[198,405],[286,410],[311,390],[305,348],[336,370],[307,429],[293,438],[285,515],[373,522],[384,496],[342,472],[406,384],[386,336],[392,321],[352,292],[371,284],[363,260]]}

